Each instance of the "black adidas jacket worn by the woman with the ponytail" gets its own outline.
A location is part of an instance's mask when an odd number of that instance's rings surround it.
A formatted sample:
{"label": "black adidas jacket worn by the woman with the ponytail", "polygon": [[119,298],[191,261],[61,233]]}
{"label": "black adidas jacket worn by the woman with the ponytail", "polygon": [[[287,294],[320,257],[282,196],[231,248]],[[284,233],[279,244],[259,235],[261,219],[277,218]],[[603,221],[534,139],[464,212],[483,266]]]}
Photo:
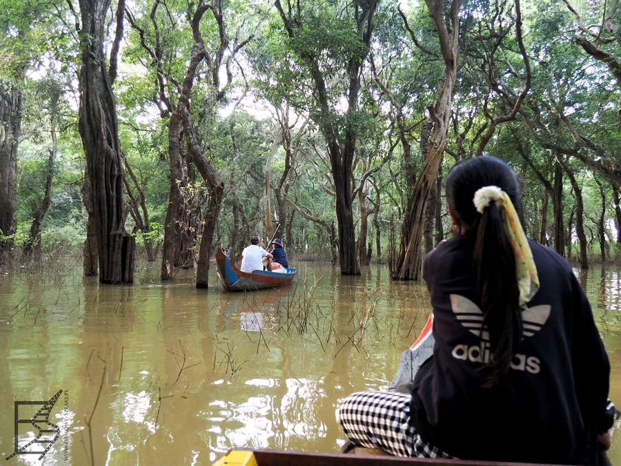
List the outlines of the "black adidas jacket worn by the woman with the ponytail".
{"label": "black adidas jacket worn by the woman with the ponytail", "polygon": [[433,357],[415,376],[411,418],[422,438],[462,459],[597,463],[610,365],[593,313],[569,264],[529,242],[540,290],[522,313],[524,339],[511,370],[484,389],[489,343],[476,298],[473,237],[429,253]]}

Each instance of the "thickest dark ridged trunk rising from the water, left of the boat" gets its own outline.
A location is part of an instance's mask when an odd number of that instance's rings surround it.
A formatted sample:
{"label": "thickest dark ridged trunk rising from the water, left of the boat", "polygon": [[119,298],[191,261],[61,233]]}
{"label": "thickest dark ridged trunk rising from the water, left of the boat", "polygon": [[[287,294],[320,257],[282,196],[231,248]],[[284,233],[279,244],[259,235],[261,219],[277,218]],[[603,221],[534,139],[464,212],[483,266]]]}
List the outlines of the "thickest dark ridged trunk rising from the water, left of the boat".
{"label": "thickest dark ridged trunk rising from the water, left of the boat", "polygon": [[82,63],[78,130],[86,153],[99,282],[134,280],[134,237],[125,231],[123,165],[115,97],[103,55],[109,0],[80,0]]}

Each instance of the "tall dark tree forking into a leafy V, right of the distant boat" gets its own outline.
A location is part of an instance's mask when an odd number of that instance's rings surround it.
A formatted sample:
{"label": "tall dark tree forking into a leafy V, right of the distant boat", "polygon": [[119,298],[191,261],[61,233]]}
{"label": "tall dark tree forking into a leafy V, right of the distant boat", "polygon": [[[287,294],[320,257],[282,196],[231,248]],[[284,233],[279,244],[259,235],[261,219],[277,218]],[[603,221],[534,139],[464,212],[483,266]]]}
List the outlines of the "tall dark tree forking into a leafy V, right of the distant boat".
{"label": "tall dark tree forking into a leafy V, right of the distant boat", "polygon": [[[288,3],[285,11],[280,0],[275,1],[288,36],[288,46],[299,64],[313,81],[311,118],[319,126],[330,157],[335,186],[336,217],[339,229],[339,265],[342,275],[359,275],[353,197],[351,191],[353,160],[359,137],[359,97],[361,72],[371,46],[375,28],[377,0],[355,0],[353,5],[336,6],[344,17],[332,11],[317,13],[313,8],[303,10],[302,3]],[[351,26],[351,28],[350,28]],[[331,27],[337,35],[331,36]],[[318,34],[317,28],[321,28]],[[317,38],[321,37],[319,41]],[[331,77],[324,68],[324,57],[336,57],[331,63],[335,72],[344,72],[346,111],[339,117],[335,108],[335,90],[330,88]],[[337,69],[341,66],[342,68]],[[330,66],[328,66],[330,68]],[[339,127],[339,121],[342,122]]]}

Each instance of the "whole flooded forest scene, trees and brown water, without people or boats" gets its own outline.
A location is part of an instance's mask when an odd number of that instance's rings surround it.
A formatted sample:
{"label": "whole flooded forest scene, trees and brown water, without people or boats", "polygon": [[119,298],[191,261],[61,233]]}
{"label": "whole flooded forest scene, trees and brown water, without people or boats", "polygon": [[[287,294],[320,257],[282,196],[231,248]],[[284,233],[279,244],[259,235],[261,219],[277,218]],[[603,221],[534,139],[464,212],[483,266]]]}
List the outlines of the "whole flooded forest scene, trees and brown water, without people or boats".
{"label": "whole flooded forest scene, trees and brown water, without people or boats", "polygon": [[[0,0],[1,458],[336,452],[481,155],[571,264],[621,405],[619,26],[617,1]],[[253,235],[297,274],[227,293],[215,254]],[[59,435],[20,454],[34,402]]]}

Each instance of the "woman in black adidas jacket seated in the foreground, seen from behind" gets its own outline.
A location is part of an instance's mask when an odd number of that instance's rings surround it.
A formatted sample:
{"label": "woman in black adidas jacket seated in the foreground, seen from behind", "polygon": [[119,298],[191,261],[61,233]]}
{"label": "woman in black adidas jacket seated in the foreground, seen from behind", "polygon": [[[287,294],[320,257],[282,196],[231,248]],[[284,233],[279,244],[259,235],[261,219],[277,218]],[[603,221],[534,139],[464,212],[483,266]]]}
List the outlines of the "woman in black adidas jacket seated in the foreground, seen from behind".
{"label": "woman in black adidas jacket seated in the foreground, seen from behind", "polygon": [[433,356],[409,394],[348,396],[345,433],[396,456],[598,464],[614,414],[610,365],[571,267],[526,240],[500,159],[455,165],[446,202],[455,235],[423,269]]}

